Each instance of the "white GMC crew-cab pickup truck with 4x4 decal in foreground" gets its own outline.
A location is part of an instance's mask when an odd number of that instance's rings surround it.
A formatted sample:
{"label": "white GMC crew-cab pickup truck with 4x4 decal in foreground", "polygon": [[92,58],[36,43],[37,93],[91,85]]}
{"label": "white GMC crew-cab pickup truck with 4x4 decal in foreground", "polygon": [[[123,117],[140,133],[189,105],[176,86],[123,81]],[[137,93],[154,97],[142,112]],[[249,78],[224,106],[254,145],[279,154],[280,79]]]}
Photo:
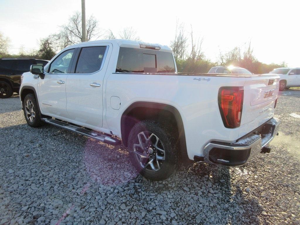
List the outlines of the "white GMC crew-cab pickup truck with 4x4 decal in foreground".
{"label": "white GMC crew-cab pickup truck with 4x4 decal in foreground", "polygon": [[122,142],[146,178],[182,163],[240,166],[277,135],[279,76],[177,73],[167,46],[129,40],[69,46],[20,88],[29,126],[45,122],[110,145]]}

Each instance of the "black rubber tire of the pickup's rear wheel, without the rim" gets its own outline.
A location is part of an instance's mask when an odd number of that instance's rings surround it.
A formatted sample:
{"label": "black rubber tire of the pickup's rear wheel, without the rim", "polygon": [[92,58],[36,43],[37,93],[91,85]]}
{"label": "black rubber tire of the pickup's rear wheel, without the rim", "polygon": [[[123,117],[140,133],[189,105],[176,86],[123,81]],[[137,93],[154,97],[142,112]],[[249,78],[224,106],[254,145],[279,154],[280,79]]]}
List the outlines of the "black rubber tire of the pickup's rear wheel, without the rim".
{"label": "black rubber tire of the pickup's rear wheel, without the rim", "polygon": [[[137,160],[136,153],[134,153],[134,142],[136,137],[141,132],[150,132],[155,134],[164,146],[165,161],[162,162],[158,171],[149,171],[143,168],[140,162]],[[131,129],[128,137],[128,150],[131,162],[137,171],[145,178],[160,181],[169,178],[173,175],[182,165],[182,159],[180,154],[178,134],[174,133],[170,127],[163,123],[158,123],[151,120],[144,120],[138,122]]]}

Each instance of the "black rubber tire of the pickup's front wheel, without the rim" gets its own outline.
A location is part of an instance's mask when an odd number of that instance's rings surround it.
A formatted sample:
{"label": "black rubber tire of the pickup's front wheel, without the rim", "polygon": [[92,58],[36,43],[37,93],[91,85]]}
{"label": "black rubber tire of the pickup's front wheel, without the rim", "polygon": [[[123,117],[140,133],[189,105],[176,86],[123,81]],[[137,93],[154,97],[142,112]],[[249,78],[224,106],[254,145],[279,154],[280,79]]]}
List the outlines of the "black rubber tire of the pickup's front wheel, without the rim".
{"label": "black rubber tire of the pickup's front wheel, without the rim", "polygon": [[[34,107],[34,112],[35,112],[35,118],[33,121],[29,121],[28,116],[26,115],[26,102],[31,101]],[[25,96],[24,101],[23,101],[23,111],[24,111],[24,116],[26,119],[26,122],[29,126],[31,127],[41,127],[45,124],[45,122],[41,119],[41,114],[38,108],[38,103],[35,99],[35,95],[33,94],[28,94]]]}

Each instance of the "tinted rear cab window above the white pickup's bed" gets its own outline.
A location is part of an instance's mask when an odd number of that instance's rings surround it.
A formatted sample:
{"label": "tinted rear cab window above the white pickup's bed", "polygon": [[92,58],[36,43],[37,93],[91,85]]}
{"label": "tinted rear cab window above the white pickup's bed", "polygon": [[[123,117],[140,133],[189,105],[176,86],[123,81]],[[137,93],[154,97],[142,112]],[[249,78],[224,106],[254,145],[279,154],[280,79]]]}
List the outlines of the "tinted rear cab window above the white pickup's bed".
{"label": "tinted rear cab window above the white pickup's bed", "polygon": [[120,47],[116,72],[174,73],[175,64],[170,52]]}

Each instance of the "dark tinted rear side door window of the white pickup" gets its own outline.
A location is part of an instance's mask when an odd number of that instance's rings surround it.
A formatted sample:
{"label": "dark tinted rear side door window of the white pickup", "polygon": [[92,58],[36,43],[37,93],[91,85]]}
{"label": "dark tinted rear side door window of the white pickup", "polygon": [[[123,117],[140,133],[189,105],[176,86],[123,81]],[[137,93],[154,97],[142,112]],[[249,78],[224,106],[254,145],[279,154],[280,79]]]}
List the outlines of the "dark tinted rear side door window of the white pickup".
{"label": "dark tinted rear side door window of the white pickup", "polygon": [[107,46],[92,46],[81,49],[75,73],[94,73],[100,70]]}

